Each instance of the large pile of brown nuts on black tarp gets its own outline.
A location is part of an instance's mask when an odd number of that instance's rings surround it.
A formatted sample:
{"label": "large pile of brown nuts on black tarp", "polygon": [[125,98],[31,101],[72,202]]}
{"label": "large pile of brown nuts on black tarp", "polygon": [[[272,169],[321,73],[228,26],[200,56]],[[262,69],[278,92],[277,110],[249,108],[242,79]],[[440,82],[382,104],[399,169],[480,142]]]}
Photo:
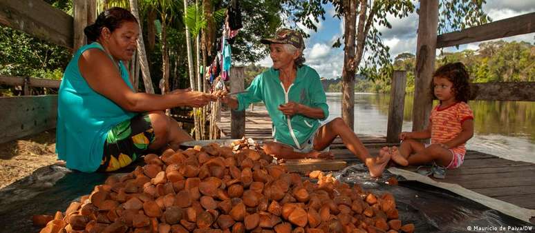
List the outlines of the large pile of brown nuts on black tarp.
{"label": "large pile of brown nuts on black tarp", "polygon": [[[236,147],[236,145],[234,145]],[[210,144],[161,156],[110,176],[41,232],[413,232],[392,194],[376,196],[320,171],[303,181],[249,146]]]}

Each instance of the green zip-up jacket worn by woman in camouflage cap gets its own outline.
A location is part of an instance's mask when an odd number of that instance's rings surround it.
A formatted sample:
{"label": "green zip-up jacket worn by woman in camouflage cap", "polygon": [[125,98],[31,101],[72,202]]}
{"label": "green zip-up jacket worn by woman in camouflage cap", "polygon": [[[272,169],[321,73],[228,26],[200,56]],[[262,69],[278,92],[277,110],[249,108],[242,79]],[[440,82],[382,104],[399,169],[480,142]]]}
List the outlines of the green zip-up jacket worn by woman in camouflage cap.
{"label": "green zip-up jacket worn by woman in camouflage cap", "polygon": [[[327,119],[329,107],[325,91],[316,70],[307,65],[297,68],[294,83],[285,92],[279,79],[279,71],[269,68],[254,78],[248,92],[238,94],[238,110],[244,110],[251,103],[263,101],[273,122],[274,141],[301,149],[312,134],[319,128],[319,121]],[[288,117],[278,108],[279,105],[293,101],[311,108],[321,108],[323,119],[313,119],[302,114]]]}

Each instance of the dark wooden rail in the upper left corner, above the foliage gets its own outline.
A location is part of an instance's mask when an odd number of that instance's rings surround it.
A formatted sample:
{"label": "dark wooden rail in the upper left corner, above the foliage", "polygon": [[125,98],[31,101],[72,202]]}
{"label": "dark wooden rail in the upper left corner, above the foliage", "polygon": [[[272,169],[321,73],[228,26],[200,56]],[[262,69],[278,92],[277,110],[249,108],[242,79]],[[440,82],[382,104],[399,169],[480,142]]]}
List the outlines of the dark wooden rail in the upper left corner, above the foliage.
{"label": "dark wooden rail in the upper left corner, above the foliage", "polygon": [[0,0],[0,24],[73,48],[73,17],[42,0]]}

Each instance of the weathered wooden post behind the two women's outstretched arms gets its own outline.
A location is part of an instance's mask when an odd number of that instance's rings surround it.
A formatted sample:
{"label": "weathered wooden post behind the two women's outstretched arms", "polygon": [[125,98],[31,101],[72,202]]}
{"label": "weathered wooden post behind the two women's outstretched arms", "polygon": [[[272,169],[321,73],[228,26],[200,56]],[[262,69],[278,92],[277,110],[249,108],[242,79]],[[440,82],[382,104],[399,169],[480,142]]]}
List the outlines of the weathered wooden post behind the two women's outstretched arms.
{"label": "weathered wooden post behind the two women's outstretched arms", "polygon": [[[233,67],[230,69],[230,92],[244,90],[245,68]],[[245,136],[245,110],[230,111],[230,134],[233,139],[241,139]]]}

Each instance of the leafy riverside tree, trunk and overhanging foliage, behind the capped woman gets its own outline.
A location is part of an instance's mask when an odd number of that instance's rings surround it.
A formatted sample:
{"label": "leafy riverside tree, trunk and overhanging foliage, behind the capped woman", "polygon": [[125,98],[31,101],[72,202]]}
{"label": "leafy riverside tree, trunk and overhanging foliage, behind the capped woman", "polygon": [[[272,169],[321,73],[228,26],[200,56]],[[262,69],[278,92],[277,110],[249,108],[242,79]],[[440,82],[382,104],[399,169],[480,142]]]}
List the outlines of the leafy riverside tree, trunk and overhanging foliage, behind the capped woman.
{"label": "leafy riverside tree, trunk and overhanging foliage, behind the capped woman", "polygon": [[[342,118],[350,128],[354,122],[355,74],[357,69],[370,79],[390,77],[393,68],[390,65],[388,46],[381,40],[377,26],[391,28],[386,18],[388,14],[397,18],[406,17],[415,9],[412,1],[376,0],[340,1],[340,0],[288,0],[290,19],[303,22],[303,25],[316,30],[315,22],[325,19],[324,4],[332,3],[335,15],[344,18],[344,68],[342,70]],[[440,0],[439,32],[457,30],[466,26],[487,23],[489,18],[482,12],[485,0]],[[312,16],[312,17],[310,17]],[[357,20],[358,19],[358,20]],[[335,46],[341,45],[340,40]],[[364,65],[359,66],[364,52],[372,55]],[[359,68],[360,67],[360,68]],[[379,68],[380,67],[380,68]],[[377,75],[379,74],[379,75]]]}

